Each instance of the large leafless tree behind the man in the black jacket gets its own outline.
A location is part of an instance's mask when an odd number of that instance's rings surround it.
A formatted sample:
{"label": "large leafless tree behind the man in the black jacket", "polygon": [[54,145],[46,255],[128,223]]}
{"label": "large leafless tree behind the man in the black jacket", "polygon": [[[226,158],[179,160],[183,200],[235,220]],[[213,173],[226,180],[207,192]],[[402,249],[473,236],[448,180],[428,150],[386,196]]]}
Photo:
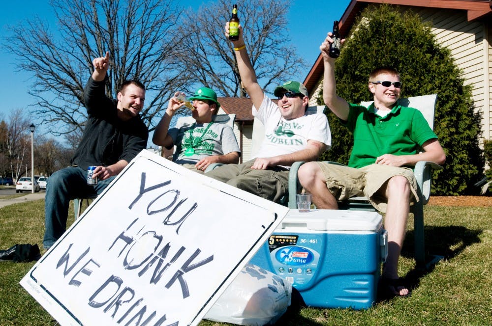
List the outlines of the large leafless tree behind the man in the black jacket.
{"label": "large leafless tree behind the man in the black jacket", "polygon": [[10,27],[5,43],[17,55],[17,68],[34,77],[33,113],[55,136],[83,129],[83,89],[92,59],[109,51],[108,96],[116,97],[124,80],[140,80],[147,88],[142,116],[153,130],[154,117],[173,92],[188,84],[187,74],[177,70],[181,10],[172,1],[160,0],[53,0],[51,5],[58,30],[36,17],[27,25]]}

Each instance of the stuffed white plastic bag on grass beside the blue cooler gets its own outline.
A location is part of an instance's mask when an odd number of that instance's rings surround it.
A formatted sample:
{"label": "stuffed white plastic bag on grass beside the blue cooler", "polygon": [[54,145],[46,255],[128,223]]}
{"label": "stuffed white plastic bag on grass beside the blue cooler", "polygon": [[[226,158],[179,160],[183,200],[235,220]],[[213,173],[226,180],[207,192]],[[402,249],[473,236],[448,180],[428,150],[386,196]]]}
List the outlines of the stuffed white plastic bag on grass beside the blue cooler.
{"label": "stuffed white plastic bag on grass beside the blue cooler", "polygon": [[287,311],[291,296],[290,282],[247,264],[207,312],[205,319],[247,326],[273,324]]}

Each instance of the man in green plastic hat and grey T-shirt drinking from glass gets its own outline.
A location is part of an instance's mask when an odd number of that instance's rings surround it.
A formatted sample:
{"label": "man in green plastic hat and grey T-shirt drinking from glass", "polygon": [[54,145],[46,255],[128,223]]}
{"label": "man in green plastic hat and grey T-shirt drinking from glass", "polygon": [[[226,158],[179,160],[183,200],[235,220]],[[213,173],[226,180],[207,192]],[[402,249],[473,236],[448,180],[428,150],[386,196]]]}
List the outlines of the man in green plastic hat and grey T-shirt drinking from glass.
{"label": "man in green plastic hat and grey T-shirt drinking from glass", "polygon": [[154,144],[171,149],[176,145],[173,162],[203,173],[212,163],[238,163],[241,150],[232,128],[214,123],[212,117],[220,108],[217,94],[208,87],[198,88],[189,98],[189,109],[195,119],[192,124],[169,129],[177,109],[186,105],[184,94],[176,92],[158,123],[152,138]]}

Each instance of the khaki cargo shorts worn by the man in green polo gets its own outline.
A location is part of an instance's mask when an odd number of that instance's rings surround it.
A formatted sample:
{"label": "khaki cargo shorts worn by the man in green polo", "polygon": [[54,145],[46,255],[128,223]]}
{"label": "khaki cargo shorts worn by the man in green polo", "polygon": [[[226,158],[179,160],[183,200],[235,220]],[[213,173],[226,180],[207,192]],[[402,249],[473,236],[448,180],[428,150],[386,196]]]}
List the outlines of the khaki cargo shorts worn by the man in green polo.
{"label": "khaki cargo shorts worn by the man in green polo", "polygon": [[337,200],[366,196],[378,211],[386,213],[386,198],[377,191],[392,177],[404,176],[410,184],[410,201],[417,196],[417,180],[413,171],[407,167],[370,164],[361,168],[316,162],[325,176],[328,190]]}

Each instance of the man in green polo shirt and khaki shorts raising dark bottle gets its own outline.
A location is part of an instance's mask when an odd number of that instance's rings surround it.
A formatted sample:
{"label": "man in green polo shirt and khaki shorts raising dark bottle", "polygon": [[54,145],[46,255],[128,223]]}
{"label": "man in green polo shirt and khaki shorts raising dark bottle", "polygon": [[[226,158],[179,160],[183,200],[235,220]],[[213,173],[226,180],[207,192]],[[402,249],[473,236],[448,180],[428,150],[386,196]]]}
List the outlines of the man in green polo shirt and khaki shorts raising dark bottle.
{"label": "man in green polo shirt and khaki shorts raising dark bottle", "polygon": [[[388,258],[381,285],[387,296],[410,294],[398,278],[398,260],[405,236],[410,201],[416,196],[413,167],[418,161],[444,163],[446,156],[422,113],[398,105],[400,75],[391,67],[380,67],[369,75],[374,103],[365,108],[338,97],[335,59],[328,55],[332,34],[321,44],[324,62],[323,100],[354,135],[348,166],[310,162],[301,166],[298,177],[319,209],[338,209],[337,200],[367,196],[386,213]],[[422,152],[421,152],[422,151]]]}

